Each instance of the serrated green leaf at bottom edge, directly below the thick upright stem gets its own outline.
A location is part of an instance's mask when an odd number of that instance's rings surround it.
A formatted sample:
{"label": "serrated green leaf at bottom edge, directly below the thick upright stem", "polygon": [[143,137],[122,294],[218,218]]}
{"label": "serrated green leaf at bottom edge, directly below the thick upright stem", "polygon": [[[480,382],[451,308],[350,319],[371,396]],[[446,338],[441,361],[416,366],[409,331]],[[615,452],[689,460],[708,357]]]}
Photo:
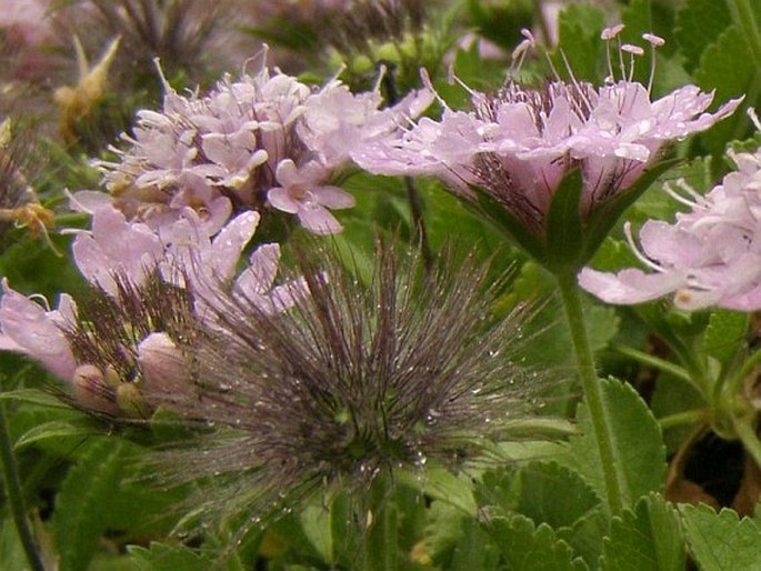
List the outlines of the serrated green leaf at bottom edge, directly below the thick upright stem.
{"label": "serrated green leaf at bottom edge, directly below the thick upright stem", "polygon": [[614,518],[601,571],[682,571],[684,541],[677,510],[662,497],[642,498],[634,511]]}

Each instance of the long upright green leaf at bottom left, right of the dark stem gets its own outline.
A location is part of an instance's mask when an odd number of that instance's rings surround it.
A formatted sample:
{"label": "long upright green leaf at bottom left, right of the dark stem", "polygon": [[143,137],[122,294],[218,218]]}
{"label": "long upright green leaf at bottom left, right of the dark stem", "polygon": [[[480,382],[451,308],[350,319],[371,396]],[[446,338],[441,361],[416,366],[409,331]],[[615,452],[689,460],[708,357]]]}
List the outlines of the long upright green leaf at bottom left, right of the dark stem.
{"label": "long upright green leaf at bottom left, right of the dark stem", "polygon": [[61,571],[87,569],[119,493],[124,449],[122,441],[99,440],[69,470],[56,497],[52,522]]}

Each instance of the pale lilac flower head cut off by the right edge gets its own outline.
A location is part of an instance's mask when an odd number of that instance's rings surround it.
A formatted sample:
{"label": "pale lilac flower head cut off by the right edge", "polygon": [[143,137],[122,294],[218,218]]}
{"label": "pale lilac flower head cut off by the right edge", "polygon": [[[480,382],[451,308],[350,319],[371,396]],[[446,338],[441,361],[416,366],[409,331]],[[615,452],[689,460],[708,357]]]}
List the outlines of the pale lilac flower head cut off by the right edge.
{"label": "pale lilac flower head cut off by the right edge", "polygon": [[[678,308],[761,309],[761,150],[730,153],[737,170],[704,197],[684,181],[669,189],[690,212],[674,223],[644,223],[637,257],[649,270],[618,273],[585,268],[579,283],[608,303],[634,304],[672,295]],[[640,251],[641,250],[641,251]]]}

